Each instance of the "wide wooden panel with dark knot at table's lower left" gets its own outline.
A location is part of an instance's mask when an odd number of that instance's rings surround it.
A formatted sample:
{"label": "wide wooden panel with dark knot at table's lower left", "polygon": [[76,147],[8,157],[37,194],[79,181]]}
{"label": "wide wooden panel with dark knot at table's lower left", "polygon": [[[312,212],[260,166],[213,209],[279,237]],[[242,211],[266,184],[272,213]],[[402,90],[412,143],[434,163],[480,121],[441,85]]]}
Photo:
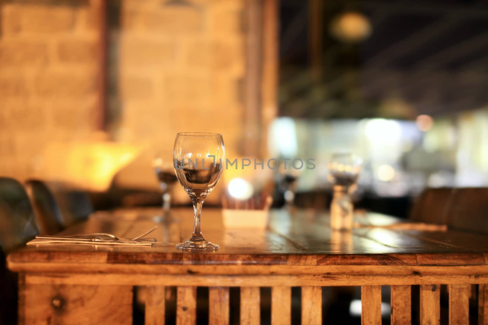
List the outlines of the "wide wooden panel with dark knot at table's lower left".
{"label": "wide wooden panel with dark knot at table's lower left", "polygon": [[132,286],[23,286],[24,325],[132,324]]}

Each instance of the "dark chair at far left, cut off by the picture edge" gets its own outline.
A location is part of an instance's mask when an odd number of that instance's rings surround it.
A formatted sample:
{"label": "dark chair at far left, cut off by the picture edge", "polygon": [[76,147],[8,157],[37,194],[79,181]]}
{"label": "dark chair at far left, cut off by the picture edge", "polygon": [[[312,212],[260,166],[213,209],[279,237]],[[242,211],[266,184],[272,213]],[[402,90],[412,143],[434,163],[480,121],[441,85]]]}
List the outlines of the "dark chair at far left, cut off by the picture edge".
{"label": "dark chair at far left, cut off by the picture edge", "polygon": [[0,323],[17,324],[17,274],[6,268],[6,255],[39,233],[34,210],[22,185],[0,177]]}

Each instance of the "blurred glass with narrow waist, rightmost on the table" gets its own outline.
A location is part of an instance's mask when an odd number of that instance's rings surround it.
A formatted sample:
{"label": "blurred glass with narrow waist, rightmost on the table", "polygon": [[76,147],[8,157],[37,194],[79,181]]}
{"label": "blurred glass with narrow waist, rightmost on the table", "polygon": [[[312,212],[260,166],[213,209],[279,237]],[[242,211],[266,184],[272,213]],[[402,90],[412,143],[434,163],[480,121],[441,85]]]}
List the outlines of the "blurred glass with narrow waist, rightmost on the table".
{"label": "blurred glass with narrow waist, rightmost on the table", "polygon": [[334,196],[330,204],[330,228],[352,229],[354,206],[350,192],[356,187],[361,171],[361,157],[352,153],[334,153],[328,164],[330,181],[334,184]]}

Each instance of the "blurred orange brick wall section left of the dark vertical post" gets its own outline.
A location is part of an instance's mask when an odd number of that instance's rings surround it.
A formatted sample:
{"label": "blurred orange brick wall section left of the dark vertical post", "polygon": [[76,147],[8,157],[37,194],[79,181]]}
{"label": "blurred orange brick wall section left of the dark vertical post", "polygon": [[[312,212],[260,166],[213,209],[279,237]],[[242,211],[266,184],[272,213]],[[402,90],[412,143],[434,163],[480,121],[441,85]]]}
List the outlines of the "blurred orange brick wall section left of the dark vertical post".
{"label": "blurred orange brick wall section left of the dark vertical post", "polygon": [[97,28],[87,1],[0,1],[0,174],[50,173],[53,141],[89,138]]}

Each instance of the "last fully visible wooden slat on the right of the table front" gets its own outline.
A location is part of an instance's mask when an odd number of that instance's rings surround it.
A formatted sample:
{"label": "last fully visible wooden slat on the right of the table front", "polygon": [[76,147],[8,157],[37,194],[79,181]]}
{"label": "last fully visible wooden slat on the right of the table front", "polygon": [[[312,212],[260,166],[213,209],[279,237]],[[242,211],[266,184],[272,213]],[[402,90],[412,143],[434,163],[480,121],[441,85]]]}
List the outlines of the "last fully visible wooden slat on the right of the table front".
{"label": "last fully visible wooden slat on the right of the table front", "polygon": [[449,285],[449,325],[469,323],[469,285]]}

